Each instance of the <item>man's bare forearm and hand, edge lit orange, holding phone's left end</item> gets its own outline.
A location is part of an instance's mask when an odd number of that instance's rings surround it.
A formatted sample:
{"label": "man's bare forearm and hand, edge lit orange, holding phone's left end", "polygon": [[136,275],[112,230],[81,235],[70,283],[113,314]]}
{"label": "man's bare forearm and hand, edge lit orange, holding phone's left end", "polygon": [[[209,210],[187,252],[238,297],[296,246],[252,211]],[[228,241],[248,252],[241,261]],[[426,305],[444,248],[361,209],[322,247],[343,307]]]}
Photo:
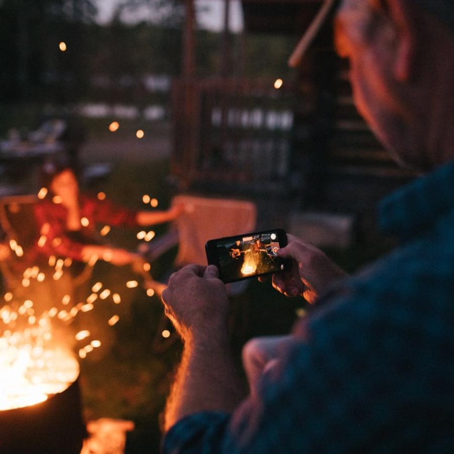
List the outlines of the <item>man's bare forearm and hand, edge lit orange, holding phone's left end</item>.
{"label": "man's bare forearm and hand, edge lit orange, holding phone's left end", "polygon": [[165,430],[199,411],[232,412],[244,397],[229,351],[229,301],[216,267],[188,265],[162,294],[166,314],[185,343],[165,410]]}

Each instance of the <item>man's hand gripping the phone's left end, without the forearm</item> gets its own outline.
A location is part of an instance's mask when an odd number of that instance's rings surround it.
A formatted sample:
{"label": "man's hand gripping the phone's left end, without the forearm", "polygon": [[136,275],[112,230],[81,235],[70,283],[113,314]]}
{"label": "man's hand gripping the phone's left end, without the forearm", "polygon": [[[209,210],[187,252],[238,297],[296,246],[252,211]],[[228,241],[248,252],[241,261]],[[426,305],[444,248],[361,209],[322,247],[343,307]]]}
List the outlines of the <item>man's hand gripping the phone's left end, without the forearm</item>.
{"label": "man's hand gripping the phone's left end, without the forearm", "polygon": [[217,275],[214,265],[186,265],[170,277],[162,302],[184,340],[225,333],[229,299]]}

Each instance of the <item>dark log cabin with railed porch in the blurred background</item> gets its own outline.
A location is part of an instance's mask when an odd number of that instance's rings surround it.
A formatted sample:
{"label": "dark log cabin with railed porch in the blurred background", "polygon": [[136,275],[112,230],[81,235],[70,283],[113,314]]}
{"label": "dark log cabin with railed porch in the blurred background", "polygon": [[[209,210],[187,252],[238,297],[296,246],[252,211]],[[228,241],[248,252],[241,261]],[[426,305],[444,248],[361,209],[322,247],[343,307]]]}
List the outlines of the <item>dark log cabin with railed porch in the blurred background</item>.
{"label": "dark log cabin with railed porch in the blurred background", "polygon": [[[245,33],[289,34],[297,42],[321,4],[242,0]],[[358,114],[332,35],[327,21],[295,80],[281,89],[269,81],[182,78],[174,91],[174,105],[186,105],[175,116],[177,130],[186,128],[176,135],[177,180],[192,190],[357,218],[412,179]]]}

